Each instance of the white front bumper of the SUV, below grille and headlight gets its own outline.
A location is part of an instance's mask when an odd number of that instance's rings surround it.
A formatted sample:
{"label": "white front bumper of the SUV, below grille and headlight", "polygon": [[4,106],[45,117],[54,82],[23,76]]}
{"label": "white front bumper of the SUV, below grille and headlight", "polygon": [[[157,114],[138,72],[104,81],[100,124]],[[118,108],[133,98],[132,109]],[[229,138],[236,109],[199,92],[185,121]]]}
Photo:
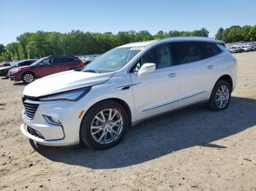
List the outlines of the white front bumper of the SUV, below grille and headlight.
{"label": "white front bumper of the SUV, below grille and headlight", "polygon": [[[31,102],[32,103],[32,102]],[[24,124],[20,125],[21,132],[39,144],[48,146],[69,146],[79,144],[80,137],[80,122],[78,118],[82,105],[78,102],[70,103],[69,101],[59,101],[53,103],[39,104],[37,112],[35,112],[33,119],[29,119],[26,116],[25,110],[23,110]],[[56,117],[61,121],[61,125],[56,125],[45,120],[44,115],[50,117]],[[39,133],[31,133],[29,129],[32,129]]]}

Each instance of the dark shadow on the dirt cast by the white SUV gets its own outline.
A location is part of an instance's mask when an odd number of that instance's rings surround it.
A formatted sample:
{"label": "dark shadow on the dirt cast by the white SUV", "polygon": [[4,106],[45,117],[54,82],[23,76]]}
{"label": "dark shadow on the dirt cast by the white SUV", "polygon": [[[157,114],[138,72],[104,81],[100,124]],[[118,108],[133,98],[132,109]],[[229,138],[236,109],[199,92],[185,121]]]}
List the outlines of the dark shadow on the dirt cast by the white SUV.
{"label": "dark shadow on the dirt cast by the white SUV", "polygon": [[211,112],[204,104],[190,106],[129,129],[116,147],[92,150],[87,147],[32,147],[49,160],[94,169],[119,168],[144,163],[181,149],[201,146],[226,148],[211,142],[227,138],[256,125],[256,100],[233,97],[228,109]]}

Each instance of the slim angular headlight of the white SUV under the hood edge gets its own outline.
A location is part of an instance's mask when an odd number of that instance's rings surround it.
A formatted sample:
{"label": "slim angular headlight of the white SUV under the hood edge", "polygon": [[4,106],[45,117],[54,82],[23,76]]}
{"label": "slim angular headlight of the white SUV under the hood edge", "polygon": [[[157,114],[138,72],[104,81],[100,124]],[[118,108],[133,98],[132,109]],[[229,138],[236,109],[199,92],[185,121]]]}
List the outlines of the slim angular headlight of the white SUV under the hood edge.
{"label": "slim angular headlight of the white SUV under the hood edge", "polygon": [[39,101],[78,101],[84,95],[89,93],[91,87],[83,87],[77,90],[70,90],[52,95],[45,95],[39,98]]}

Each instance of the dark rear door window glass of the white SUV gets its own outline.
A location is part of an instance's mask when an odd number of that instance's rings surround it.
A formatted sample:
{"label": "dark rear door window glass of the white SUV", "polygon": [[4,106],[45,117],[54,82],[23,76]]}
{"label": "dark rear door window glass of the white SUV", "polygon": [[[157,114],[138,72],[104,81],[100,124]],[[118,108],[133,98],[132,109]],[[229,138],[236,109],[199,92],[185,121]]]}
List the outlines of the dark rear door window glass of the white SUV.
{"label": "dark rear door window glass of the white SUV", "polygon": [[178,64],[203,60],[203,50],[197,42],[175,42]]}

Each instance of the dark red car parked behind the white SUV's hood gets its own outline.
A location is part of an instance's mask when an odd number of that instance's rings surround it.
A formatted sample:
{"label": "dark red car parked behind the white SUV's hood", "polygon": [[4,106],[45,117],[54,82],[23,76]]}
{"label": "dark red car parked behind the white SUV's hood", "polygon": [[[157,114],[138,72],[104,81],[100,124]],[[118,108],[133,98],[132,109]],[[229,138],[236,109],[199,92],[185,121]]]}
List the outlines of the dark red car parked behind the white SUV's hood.
{"label": "dark red car parked behind the white SUV's hood", "polygon": [[31,83],[39,77],[45,77],[61,71],[79,69],[84,67],[84,63],[75,56],[70,55],[50,55],[41,58],[30,66],[21,66],[11,69],[8,76],[11,80]]}

